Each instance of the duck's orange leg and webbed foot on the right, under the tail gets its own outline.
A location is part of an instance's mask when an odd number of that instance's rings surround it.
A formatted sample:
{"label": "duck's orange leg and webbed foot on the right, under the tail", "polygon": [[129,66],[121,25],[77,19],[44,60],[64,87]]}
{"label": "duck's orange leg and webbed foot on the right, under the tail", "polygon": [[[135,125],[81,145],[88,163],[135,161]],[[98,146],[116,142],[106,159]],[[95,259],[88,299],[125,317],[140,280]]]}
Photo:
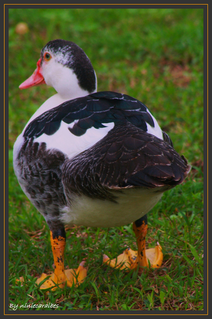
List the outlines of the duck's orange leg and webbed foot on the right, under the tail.
{"label": "duck's orange leg and webbed foot on the right, under the tail", "polygon": [[148,259],[152,268],[159,268],[162,265],[163,254],[159,244],[155,248],[145,249],[146,234],[147,234],[147,215],[137,219],[133,223],[133,231],[136,235],[138,250],[134,251],[130,248],[125,249],[123,254],[117,258],[110,260],[104,255],[103,262],[113,268],[120,269],[136,269],[139,267],[139,272],[142,272],[143,267],[148,267]]}

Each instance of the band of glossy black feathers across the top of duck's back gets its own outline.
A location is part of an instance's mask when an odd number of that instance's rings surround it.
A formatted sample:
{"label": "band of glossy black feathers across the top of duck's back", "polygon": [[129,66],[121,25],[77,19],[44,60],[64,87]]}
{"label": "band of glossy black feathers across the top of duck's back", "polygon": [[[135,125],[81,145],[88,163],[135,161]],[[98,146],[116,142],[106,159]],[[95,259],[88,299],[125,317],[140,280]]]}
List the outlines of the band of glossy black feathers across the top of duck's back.
{"label": "band of glossy black feathers across the top of duck's back", "polygon": [[70,132],[76,136],[83,135],[92,126],[96,129],[103,123],[116,124],[126,121],[147,131],[146,122],[155,126],[147,107],[140,101],[121,93],[97,92],[78,99],[66,101],[38,116],[29,123],[24,131],[24,137],[39,137],[43,133],[54,134],[60,127],[61,121],[70,124],[74,121]]}

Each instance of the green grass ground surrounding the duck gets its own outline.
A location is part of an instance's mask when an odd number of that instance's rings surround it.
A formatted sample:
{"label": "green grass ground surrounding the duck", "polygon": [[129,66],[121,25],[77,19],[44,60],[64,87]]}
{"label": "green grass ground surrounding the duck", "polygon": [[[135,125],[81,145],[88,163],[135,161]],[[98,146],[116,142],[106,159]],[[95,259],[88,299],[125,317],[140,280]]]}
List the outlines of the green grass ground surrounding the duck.
{"label": "green grass ground surrounding the duck", "polygon": [[[16,33],[19,22],[28,24],[28,33]],[[83,48],[99,91],[127,93],[145,103],[193,169],[148,214],[147,246],[160,242],[160,269],[138,276],[102,265],[103,253],[116,257],[126,246],[136,249],[131,225],[67,227],[65,265],[74,268],[86,258],[88,276],[78,288],[43,293],[35,281],[52,270],[49,230],[18,185],[12,147],[30,116],[54,93],[44,85],[23,91],[18,85],[35,70],[44,44],[56,38]],[[10,9],[9,304],[18,304],[17,310],[21,304],[51,303],[58,305],[54,311],[202,310],[202,164],[202,9]],[[19,276],[25,278],[23,286],[16,283]]]}

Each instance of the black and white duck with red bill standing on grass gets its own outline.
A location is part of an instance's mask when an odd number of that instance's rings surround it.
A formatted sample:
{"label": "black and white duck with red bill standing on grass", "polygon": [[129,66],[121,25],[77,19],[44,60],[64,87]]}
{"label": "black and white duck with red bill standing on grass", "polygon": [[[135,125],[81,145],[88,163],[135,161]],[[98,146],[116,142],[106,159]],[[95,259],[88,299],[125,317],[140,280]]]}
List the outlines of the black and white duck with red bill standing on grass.
{"label": "black and white duck with red bill standing on grass", "polygon": [[[162,265],[162,248],[145,249],[147,213],[190,171],[183,155],[142,102],[97,92],[94,68],[82,48],[57,39],[41,50],[36,70],[20,86],[49,85],[56,94],[32,115],[13,149],[17,180],[50,229],[55,269],[40,289],[79,285],[85,261],[65,269],[65,226],[117,227],[133,223],[137,251],[103,262],[120,270]],[[42,285],[41,285],[42,284]]]}

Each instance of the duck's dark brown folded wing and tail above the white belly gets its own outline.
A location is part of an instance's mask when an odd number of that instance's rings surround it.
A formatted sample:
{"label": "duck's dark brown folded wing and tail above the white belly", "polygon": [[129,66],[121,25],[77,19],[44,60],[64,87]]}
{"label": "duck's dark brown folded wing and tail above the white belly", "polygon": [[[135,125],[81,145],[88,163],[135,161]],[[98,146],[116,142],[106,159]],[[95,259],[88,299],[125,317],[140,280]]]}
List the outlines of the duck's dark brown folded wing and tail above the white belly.
{"label": "duck's dark brown folded wing and tail above the white belly", "polygon": [[186,159],[167,142],[127,122],[115,125],[96,145],[66,161],[62,179],[66,194],[113,200],[111,189],[164,191],[181,184],[189,170]]}

